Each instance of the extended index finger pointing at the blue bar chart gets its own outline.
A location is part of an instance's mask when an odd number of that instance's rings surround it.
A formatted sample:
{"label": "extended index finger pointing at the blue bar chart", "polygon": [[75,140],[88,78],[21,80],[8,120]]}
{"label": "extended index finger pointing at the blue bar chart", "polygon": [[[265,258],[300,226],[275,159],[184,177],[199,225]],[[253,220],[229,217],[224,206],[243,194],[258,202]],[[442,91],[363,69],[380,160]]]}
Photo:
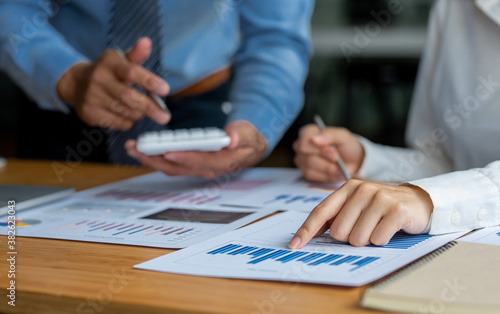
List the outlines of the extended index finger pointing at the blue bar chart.
{"label": "extended index finger pointing at the blue bar chart", "polygon": [[335,218],[347,200],[345,189],[339,189],[330,194],[318,206],[316,206],[306,221],[297,230],[292,240],[288,244],[291,249],[300,249],[312,238],[326,231],[323,226]]}

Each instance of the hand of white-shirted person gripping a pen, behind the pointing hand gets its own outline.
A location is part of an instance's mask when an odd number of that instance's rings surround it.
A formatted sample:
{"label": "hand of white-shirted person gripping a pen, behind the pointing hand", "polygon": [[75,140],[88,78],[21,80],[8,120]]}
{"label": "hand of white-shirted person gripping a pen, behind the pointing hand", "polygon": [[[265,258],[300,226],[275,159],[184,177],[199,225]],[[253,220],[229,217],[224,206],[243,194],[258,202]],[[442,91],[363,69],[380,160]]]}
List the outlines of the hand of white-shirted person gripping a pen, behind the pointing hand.
{"label": "hand of white-shirted person gripping a pen, behind the pointing hand", "polygon": [[[332,148],[331,145],[335,145]],[[337,159],[340,154],[350,174],[356,174],[365,152],[358,139],[344,128],[327,127],[322,132],[314,125],[300,129],[293,143],[295,164],[309,181],[337,183],[345,180]]]}

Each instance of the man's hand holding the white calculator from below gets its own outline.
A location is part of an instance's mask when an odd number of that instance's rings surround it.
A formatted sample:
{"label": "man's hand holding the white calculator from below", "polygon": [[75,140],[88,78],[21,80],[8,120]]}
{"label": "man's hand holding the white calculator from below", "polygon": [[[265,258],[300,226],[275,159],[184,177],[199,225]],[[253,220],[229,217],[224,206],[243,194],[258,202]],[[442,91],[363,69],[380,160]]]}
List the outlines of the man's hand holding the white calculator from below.
{"label": "man's hand holding the white calculator from below", "polygon": [[136,148],[136,141],[125,144],[127,153],[140,163],[171,176],[213,178],[223,173],[255,165],[265,152],[265,138],[246,121],[234,121],[225,128],[231,138],[226,148],[217,152],[179,151],[163,156],[147,156]]}

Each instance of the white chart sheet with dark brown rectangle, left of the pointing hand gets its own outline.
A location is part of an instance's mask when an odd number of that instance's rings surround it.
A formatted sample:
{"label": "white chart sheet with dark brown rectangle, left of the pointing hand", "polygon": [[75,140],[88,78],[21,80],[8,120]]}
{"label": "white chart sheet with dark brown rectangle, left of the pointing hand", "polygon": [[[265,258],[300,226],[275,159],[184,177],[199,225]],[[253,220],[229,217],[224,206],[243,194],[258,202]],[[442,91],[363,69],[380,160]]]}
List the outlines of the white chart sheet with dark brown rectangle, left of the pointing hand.
{"label": "white chart sheet with dark brown rectangle, left of the pointing hand", "polygon": [[[80,213],[87,211],[88,215]],[[135,207],[60,202],[19,214],[17,236],[184,248],[264,217],[272,210],[213,206]],[[124,213],[133,213],[123,218]],[[0,222],[7,234],[8,221]]]}

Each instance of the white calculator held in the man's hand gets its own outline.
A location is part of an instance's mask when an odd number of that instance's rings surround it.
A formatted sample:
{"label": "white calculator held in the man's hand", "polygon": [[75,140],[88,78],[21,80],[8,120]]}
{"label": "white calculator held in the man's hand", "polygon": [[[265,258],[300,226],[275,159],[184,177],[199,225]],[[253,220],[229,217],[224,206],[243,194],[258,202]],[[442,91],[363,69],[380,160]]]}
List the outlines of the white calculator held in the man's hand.
{"label": "white calculator held in the man's hand", "polygon": [[146,132],[137,139],[137,150],[149,155],[171,151],[218,151],[231,142],[224,130],[210,128]]}

